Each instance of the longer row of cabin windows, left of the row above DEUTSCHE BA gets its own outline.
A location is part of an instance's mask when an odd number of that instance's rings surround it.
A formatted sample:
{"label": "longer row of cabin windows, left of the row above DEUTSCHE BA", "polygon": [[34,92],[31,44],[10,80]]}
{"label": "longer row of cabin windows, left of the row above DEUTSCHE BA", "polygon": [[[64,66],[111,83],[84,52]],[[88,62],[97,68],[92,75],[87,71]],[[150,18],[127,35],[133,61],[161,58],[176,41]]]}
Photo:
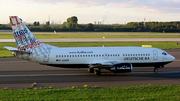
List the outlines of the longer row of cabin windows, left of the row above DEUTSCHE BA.
{"label": "longer row of cabin windows, left of the row above DEUTSCHE BA", "polygon": [[119,57],[120,54],[96,54],[96,55],[56,55],[56,57]]}

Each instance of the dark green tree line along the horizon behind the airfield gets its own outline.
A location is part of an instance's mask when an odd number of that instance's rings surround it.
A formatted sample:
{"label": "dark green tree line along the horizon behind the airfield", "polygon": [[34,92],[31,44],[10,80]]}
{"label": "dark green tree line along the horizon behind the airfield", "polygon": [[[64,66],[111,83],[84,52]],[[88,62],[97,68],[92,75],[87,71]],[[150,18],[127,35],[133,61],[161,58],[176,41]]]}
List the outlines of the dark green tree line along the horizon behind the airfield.
{"label": "dark green tree line along the horizon behind the airfield", "polygon": [[[172,22],[129,22],[125,25],[119,24],[78,24],[76,16],[69,17],[62,25],[41,25],[35,21],[32,25],[27,25],[31,31],[38,32],[180,32],[180,21]],[[0,24],[0,30],[11,30],[10,25]]]}

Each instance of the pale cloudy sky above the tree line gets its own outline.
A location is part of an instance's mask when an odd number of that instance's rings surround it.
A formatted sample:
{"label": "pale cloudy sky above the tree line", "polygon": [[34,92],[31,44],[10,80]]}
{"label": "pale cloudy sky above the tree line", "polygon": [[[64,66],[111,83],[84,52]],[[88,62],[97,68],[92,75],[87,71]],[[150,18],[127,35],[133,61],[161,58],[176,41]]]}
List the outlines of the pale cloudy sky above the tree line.
{"label": "pale cloudy sky above the tree line", "polygon": [[62,24],[71,16],[79,24],[180,21],[179,5],[180,0],[0,0],[0,24],[9,23],[9,16],[40,24]]}

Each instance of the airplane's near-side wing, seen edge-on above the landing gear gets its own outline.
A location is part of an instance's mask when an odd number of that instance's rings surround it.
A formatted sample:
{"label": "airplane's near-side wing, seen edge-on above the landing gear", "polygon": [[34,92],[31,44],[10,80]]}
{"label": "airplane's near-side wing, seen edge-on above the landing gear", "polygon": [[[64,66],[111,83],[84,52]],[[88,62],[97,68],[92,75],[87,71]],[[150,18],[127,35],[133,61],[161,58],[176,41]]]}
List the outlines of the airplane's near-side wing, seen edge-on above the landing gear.
{"label": "airplane's near-side wing, seen edge-on above the landing gear", "polygon": [[102,62],[102,63],[92,63],[89,66],[90,68],[97,68],[97,67],[109,68],[117,64],[121,64],[121,63],[117,61],[109,61],[109,62]]}

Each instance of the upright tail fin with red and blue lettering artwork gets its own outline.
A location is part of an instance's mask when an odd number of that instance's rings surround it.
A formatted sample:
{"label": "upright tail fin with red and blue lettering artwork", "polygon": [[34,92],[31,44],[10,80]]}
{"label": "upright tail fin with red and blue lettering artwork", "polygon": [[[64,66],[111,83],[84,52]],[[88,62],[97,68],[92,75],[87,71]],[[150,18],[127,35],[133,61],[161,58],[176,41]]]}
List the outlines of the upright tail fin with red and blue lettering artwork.
{"label": "upright tail fin with red and blue lettering artwork", "polygon": [[19,51],[26,51],[40,46],[41,42],[33,35],[19,17],[10,16],[9,18],[16,46]]}

